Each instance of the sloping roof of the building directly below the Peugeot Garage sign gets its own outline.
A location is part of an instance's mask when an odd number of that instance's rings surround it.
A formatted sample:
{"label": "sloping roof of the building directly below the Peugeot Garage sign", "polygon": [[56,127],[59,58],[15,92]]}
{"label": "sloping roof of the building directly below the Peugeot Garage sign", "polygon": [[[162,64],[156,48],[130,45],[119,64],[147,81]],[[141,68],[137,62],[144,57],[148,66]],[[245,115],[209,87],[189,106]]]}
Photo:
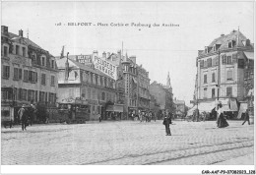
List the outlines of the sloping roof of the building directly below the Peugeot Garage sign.
{"label": "sloping roof of the building directly below the Peugeot Garage sign", "polygon": [[[66,61],[67,61],[67,57],[56,60],[58,69],[65,69]],[[101,73],[100,71],[91,68],[92,64],[85,65],[85,64],[79,63],[79,62],[77,62],[75,60],[72,60],[72,59],[68,59],[68,63],[69,63],[70,68],[79,68],[79,69],[82,69],[82,70],[85,70],[85,71],[90,71],[92,73],[95,73],[96,75],[112,79],[110,76],[107,76],[107,75]]]}

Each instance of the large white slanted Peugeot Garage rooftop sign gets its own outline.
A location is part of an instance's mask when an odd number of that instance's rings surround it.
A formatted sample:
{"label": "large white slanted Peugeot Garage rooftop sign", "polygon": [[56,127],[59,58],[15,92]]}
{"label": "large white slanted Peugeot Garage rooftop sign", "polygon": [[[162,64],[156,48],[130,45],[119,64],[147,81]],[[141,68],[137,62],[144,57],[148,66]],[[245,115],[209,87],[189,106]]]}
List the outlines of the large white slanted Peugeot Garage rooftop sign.
{"label": "large white slanted Peugeot Garage rooftop sign", "polygon": [[94,57],[93,63],[98,71],[117,80],[117,67],[114,64],[103,58],[98,58],[97,56]]}

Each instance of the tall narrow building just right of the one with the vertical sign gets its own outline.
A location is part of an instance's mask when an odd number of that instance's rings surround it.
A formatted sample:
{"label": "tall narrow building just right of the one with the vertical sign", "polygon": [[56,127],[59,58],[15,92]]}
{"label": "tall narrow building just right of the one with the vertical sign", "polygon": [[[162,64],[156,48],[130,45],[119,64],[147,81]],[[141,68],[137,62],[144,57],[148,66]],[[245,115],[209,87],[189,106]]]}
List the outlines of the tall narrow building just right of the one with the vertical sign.
{"label": "tall narrow building just right of the one with the vertical sign", "polygon": [[149,72],[147,72],[142,65],[137,67],[138,70],[138,109],[149,110],[150,109],[150,78]]}

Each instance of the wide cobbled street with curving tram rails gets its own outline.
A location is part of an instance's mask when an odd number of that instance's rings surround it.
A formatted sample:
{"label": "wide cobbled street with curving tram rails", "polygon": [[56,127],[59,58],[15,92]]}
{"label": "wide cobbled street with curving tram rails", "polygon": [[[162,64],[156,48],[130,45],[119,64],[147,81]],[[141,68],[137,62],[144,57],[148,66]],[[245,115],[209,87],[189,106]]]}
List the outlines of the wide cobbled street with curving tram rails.
{"label": "wide cobbled street with curving tram rails", "polygon": [[[228,121],[174,121],[165,136],[162,121],[91,122],[1,129],[2,164],[210,165],[251,155],[254,125]],[[253,165],[250,156],[246,164]]]}

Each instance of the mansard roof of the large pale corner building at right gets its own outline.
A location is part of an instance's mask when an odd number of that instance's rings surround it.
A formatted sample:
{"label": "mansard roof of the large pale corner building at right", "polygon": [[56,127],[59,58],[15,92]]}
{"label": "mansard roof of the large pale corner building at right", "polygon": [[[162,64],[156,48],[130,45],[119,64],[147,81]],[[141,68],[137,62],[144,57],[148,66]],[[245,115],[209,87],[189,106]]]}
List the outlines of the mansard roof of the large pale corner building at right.
{"label": "mansard roof of the large pale corner building at right", "polygon": [[[220,50],[228,49],[228,41],[231,41],[231,40],[234,40],[236,42],[238,40],[238,43],[236,43],[236,45],[238,47],[244,47],[245,46],[244,43],[245,43],[246,39],[247,38],[239,30],[232,30],[229,34],[222,35],[222,36],[214,39],[208,45],[208,47],[212,48],[215,44],[219,44]],[[213,49],[211,49],[209,51],[209,53],[211,53],[211,52],[216,52],[216,51],[213,51]],[[205,52],[205,50],[203,50],[202,52],[200,51],[200,54],[207,54],[207,53]]]}

